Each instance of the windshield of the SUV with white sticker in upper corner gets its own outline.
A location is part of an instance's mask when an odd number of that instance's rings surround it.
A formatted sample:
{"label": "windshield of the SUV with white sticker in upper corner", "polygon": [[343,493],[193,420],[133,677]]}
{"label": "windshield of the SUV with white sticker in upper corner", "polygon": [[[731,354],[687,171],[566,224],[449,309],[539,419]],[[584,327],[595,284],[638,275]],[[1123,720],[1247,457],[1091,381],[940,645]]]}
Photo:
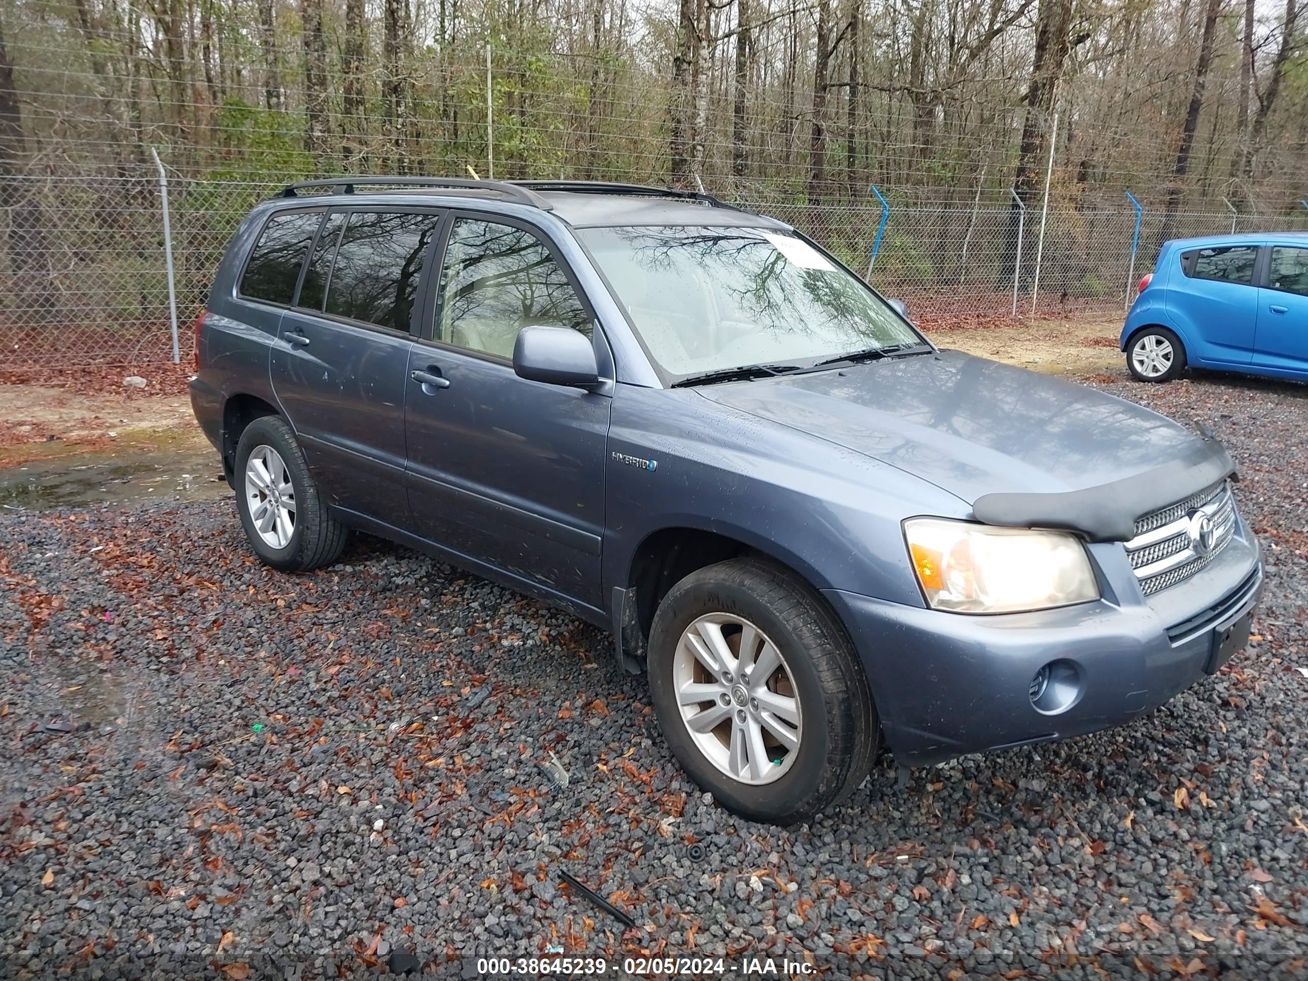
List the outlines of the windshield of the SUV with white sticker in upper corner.
{"label": "windshield of the SUV with white sticker in upper corner", "polygon": [[811,368],[922,339],[863,283],[795,235],[747,228],[577,234],[667,374]]}

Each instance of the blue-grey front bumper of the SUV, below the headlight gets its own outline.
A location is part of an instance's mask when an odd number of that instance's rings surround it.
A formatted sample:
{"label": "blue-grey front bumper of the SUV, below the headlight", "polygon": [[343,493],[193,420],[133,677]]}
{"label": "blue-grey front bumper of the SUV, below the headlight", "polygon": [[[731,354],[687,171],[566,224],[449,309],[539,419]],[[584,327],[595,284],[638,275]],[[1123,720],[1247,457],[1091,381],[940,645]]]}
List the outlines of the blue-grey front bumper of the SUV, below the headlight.
{"label": "blue-grey front bumper of the SUV, below the headlight", "polygon": [[[1243,519],[1207,568],[1147,600],[1120,544],[1091,549],[1108,560],[1097,561],[1104,599],[1062,610],[961,616],[824,590],[858,649],[897,761],[926,765],[1129,722],[1199,680],[1215,629],[1262,594],[1258,543]],[[1037,710],[1029,695],[1050,661],[1074,664],[1079,680],[1057,714]]]}

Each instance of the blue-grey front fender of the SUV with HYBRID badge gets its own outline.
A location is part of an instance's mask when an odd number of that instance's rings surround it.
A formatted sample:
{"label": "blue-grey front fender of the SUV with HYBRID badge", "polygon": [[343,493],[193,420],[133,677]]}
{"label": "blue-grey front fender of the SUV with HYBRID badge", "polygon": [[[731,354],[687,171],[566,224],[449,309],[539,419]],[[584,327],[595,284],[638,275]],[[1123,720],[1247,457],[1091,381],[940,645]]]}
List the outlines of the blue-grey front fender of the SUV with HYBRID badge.
{"label": "blue-grey front fender of the SUV with HYBRID badge", "polygon": [[922,606],[903,519],[971,514],[920,477],[693,390],[617,386],[608,450],[604,595],[629,585],[649,535],[695,528],[772,556],[814,589]]}

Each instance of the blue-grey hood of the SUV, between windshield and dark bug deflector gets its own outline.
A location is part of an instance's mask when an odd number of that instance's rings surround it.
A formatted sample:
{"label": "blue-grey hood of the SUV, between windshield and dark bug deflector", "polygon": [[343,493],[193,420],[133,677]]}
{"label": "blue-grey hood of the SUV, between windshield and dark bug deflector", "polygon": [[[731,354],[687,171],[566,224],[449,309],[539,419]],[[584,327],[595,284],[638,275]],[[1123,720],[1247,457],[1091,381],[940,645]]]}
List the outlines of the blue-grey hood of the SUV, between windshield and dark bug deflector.
{"label": "blue-grey hood of the SUV, between windshield and dark bug deflector", "polygon": [[968,504],[1097,487],[1180,460],[1199,442],[1134,403],[957,351],[697,391]]}

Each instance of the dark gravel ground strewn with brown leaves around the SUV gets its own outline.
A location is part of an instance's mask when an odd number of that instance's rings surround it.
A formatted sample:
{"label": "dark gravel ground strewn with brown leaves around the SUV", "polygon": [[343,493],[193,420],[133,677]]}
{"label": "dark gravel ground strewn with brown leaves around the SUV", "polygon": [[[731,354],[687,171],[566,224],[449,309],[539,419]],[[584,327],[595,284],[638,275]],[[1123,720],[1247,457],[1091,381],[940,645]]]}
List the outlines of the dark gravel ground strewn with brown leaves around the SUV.
{"label": "dark gravel ground strewn with brown leaves around the SUV", "polygon": [[0,973],[458,977],[559,946],[1308,976],[1308,388],[1104,387],[1228,442],[1269,560],[1252,649],[1121,730],[903,790],[883,761],[789,831],[688,783],[606,636],[475,577],[360,540],[281,576],[230,501],[0,519]]}

